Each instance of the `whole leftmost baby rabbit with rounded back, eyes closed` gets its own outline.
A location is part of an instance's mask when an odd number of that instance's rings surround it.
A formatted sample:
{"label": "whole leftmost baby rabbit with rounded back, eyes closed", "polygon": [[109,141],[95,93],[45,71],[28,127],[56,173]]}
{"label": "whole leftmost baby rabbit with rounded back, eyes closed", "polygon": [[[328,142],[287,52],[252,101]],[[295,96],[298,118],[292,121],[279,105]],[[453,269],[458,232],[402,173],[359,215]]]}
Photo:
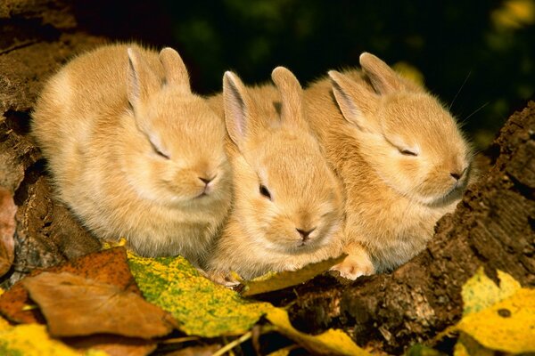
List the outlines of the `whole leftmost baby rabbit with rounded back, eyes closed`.
{"label": "whole leftmost baby rabbit with rounded back, eyes closed", "polygon": [[32,134],[59,197],[96,236],[199,265],[232,195],[225,125],[176,51],[111,44],[46,83]]}

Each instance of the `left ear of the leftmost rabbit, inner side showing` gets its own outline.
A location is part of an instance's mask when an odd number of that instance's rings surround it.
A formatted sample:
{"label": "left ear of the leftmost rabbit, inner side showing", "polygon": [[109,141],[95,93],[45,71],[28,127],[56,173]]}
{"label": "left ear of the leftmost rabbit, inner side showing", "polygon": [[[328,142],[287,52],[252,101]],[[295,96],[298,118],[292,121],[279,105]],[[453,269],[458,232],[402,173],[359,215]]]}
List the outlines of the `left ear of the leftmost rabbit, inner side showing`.
{"label": "left ear of the leftmost rabbit, inner side showing", "polygon": [[160,80],[135,48],[128,48],[128,101],[136,111],[149,95],[160,89]]}

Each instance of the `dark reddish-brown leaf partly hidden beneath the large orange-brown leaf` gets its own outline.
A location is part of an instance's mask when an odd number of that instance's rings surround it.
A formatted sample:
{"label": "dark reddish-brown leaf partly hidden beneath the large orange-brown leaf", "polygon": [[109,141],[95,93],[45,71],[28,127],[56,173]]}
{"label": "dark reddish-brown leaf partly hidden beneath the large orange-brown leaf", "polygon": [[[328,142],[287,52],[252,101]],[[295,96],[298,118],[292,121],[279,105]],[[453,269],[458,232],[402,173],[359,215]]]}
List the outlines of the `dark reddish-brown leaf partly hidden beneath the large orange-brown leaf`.
{"label": "dark reddish-brown leaf partly hidden beneath the large orange-brown leaf", "polygon": [[[136,280],[130,273],[127,263],[127,253],[124,247],[115,247],[99,251],[94,254],[84,255],[68,263],[54,266],[40,271],[32,271],[29,276],[37,276],[43,271],[60,272],[67,271],[86,279],[93,279],[102,283],[108,283],[141,295],[136,285]],[[16,283],[0,295],[0,314],[16,323],[40,323],[45,320],[38,309],[23,310],[25,305],[32,303],[29,295],[21,282]]]}

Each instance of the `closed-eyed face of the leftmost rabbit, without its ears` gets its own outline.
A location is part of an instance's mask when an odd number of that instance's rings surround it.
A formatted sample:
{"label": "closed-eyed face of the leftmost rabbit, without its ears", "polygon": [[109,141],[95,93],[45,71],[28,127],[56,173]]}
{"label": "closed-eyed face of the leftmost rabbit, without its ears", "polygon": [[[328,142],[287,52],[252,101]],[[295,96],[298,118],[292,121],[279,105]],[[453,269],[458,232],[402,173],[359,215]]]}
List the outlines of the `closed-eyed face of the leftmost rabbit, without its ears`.
{"label": "closed-eyed face of the leftmost rabbit, without its ears", "polygon": [[[225,126],[200,98],[162,93],[144,113],[143,144],[131,174],[144,181],[144,194],[162,204],[202,206],[225,198],[230,168],[224,151]],[[164,108],[164,109],[162,109]],[[148,127],[146,127],[148,126]]]}

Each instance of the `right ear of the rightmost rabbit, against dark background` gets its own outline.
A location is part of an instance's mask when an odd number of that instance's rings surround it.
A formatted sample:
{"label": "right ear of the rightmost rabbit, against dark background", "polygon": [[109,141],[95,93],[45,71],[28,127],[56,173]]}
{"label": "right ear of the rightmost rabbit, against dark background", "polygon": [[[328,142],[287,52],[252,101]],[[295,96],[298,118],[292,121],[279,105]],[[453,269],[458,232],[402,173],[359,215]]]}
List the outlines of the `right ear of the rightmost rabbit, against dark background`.
{"label": "right ear of the rightmost rabbit, against dark background", "polygon": [[400,90],[411,92],[421,92],[420,88],[410,80],[406,80],[391,69],[388,64],[381,61],[372,53],[362,53],[359,57],[360,66],[366,76],[370,79],[376,93],[385,95]]}

